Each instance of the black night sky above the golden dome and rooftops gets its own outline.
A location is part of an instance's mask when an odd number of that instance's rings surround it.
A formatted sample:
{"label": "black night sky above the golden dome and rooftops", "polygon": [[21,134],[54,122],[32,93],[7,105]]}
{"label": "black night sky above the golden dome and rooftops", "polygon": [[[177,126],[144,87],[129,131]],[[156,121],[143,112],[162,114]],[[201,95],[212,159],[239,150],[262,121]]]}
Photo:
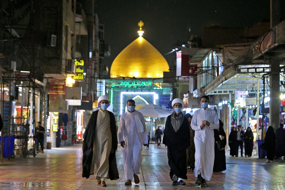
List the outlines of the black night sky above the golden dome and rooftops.
{"label": "black night sky above the golden dome and rooftops", "polygon": [[[283,1],[283,0],[281,0]],[[269,0],[96,0],[99,23],[105,24],[105,43],[111,56],[104,63],[110,68],[115,57],[138,37],[137,23],[144,22],[143,37],[163,54],[189,35],[202,35],[202,28],[252,26],[270,19]],[[281,7],[285,6],[284,3]],[[284,14],[284,12],[281,14]],[[283,16],[283,15],[282,15]],[[188,32],[191,27],[191,32]],[[165,56],[168,63],[172,55]]]}

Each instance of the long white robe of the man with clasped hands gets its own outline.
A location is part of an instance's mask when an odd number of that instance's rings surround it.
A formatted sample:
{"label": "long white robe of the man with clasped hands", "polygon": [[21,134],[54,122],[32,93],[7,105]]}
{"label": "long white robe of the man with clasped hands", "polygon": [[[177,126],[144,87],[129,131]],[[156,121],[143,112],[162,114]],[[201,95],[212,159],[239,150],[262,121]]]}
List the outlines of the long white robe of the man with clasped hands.
{"label": "long white robe of the man with clasped hands", "polygon": [[[210,126],[200,128],[202,121],[206,120]],[[210,181],[213,174],[215,150],[214,130],[219,129],[219,118],[215,110],[203,108],[196,110],[193,114],[191,127],[195,130],[195,169],[194,176],[201,174],[202,178]]]}

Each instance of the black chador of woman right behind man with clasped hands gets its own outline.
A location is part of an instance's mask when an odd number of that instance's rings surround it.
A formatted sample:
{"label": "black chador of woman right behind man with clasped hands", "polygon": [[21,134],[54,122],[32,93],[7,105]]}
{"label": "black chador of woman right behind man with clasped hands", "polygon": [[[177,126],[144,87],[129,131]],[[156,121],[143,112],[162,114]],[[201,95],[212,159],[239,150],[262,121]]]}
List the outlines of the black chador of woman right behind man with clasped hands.
{"label": "black chador of woman right behind man with clasped hands", "polygon": [[[226,152],[225,152],[225,146],[227,144],[226,139],[226,133],[224,131],[224,124],[221,120],[219,120],[220,126],[219,130],[214,129],[214,138],[215,138],[215,159],[214,159],[214,167],[213,172],[222,172],[226,170]],[[223,140],[220,139],[219,135],[224,136],[225,138]],[[223,150],[219,150],[218,148],[218,142],[221,145],[221,148],[224,148]]]}

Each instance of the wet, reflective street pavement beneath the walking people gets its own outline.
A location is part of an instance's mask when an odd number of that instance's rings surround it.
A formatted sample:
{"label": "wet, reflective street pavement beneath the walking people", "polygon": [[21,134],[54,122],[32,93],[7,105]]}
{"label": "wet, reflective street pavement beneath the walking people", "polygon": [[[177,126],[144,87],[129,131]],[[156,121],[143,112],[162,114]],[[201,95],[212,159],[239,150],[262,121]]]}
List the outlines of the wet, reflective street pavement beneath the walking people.
{"label": "wet, reflective street pavement beneath the walking people", "polygon": [[[0,163],[0,189],[200,189],[194,185],[196,178],[193,172],[188,172],[186,186],[171,186],[169,166],[167,164],[167,148],[162,145],[157,148],[143,149],[143,163],[140,183],[125,186],[124,168],[121,149],[117,151],[117,164],[120,178],[115,181],[106,180],[107,187],[96,184],[94,175],[82,178],[81,145],[45,150],[36,158],[15,158]],[[265,159],[231,157],[226,150],[227,170],[214,172],[209,187],[201,189],[285,189],[285,161],[275,160],[264,163]]]}

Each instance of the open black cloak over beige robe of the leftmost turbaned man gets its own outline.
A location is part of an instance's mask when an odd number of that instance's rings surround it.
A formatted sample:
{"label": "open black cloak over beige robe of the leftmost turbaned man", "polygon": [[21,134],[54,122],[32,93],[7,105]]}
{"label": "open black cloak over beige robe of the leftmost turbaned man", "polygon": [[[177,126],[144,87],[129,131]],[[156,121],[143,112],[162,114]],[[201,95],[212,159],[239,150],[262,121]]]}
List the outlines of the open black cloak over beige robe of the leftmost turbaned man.
{"label": "open black cloak over beige robe of the leftmost turbaned man", "polygon": [[[94,137],[95,137],[95,127],[97,121],[98,111],[94,111],[89,119],[85,132],[83,134],[83,157],[82,157],[82,177],[89,178],[91,175],[91,165],[92,165],[92,157],[93,157],[93,145],[94,145]],[[118,147],[118,138],[117,138],[117,127],[115,124],[115,116],[112,112],[109,112],[110,115],[110,129],[112,133],[112,149],[109,155],[109,179],[116,180],[119,178],[119,172],[117,168],[116,162],[116,150]]]}

